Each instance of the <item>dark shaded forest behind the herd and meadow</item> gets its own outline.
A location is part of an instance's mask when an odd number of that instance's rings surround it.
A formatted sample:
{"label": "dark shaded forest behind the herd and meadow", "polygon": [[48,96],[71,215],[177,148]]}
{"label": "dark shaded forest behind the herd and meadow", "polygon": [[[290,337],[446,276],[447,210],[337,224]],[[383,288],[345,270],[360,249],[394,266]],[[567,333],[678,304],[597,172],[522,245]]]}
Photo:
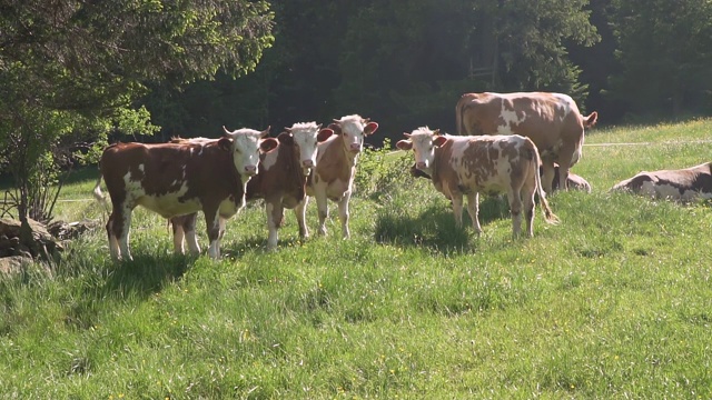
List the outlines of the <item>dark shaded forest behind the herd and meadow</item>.
{"label": "dark shaded forest behind the herd and meadow", "polygon": [[253,73],[144,98],[170,136],[273,130],[348,113],[370,140],[454,130],[464,92],[560,91],[619,124],[712,112],[705,0],[275,0],[274,47]]}

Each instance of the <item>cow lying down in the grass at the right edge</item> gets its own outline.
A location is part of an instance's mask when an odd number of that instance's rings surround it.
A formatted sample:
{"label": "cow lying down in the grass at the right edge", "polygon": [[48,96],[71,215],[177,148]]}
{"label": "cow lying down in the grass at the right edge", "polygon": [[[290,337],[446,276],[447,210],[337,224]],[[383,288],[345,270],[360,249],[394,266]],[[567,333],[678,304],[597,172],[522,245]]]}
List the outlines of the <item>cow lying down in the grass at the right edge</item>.
{"label": "cow lying down in the grass at the right edge", "polygon": [[712,199],[712,162],[678,170],[643,171],[611,190],[681,202]]}

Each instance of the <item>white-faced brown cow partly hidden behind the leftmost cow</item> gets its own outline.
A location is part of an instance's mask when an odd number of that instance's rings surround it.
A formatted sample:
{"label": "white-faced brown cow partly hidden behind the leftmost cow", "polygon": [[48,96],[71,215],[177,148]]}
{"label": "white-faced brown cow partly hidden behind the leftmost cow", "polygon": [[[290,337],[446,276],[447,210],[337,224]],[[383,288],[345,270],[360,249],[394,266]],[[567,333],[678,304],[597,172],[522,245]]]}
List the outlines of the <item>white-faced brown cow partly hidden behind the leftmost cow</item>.
{"label": "white-faced brown cow partly hidden behind the leftmost cow", "polygon": [[[277,247],[278,229],[284,221],[284,210],[295,209],[306,196],[306,179],[317,164],[317,143],[328,139],[334,131],[322,129],[316,122],[297,122],[285,128],[277,140],[279,144],[271,151],[263,153],[259,162],[259,173],[247,182],[246,201],[265,200],[267,214],[267,250]],[[186,214],[171,218],[174,227],[174,244],[177,253],[184,253],[182,239],[187,234],[195,242],[195,226],[197,214]],[[300,229],[299,234],[305,232]],[[189,247],[191,252],[199,252],[199,248]]]}

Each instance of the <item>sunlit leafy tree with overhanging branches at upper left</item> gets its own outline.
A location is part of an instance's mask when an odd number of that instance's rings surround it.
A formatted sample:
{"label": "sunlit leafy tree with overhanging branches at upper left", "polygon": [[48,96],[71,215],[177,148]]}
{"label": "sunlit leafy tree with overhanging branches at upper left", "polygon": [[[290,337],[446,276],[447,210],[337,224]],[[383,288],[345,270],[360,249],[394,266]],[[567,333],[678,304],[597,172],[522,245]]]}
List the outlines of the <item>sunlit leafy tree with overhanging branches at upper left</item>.
{"label": "sunlit leafy tree with overhanging branches at upper left", "polygon": [[150,82],[179,88],[254,70],[273,43],[271,19],[266,1],[2,0],[0,149],[20,219],[50,218],[32,197],[40,161],[62,138],[150,133],[148,112],[132,107]]}

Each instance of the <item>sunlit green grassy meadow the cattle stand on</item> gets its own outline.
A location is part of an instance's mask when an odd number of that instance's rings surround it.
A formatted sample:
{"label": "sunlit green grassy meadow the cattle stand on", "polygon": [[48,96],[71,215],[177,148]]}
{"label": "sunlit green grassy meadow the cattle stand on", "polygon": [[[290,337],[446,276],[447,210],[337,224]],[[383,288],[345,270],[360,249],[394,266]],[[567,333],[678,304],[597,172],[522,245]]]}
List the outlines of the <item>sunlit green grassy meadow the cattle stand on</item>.
{"label": "sunlit green grassy meadow the cattle stand on", "polygon": [[[497,199],[482,201],[482,237],[456,229],[405,173],[412,154],[385,151],[362,159],[347,241],[335,210],[329,236],[304,242],[288,213],[265,252],[254,204],[229,221],[222,260],[184,258],[137,210],[134,262],[112,262],[99,229],[52,274],[0,279],[0,398],[710,399],[710,206],[607,190],[710,161],[711,132],[592,130],[574,172],[593,192],[554,194],[562,223],[537,210],[517,241]],[[647,144],[595,146],[630,142]],[[59,218],[106,218],[83,173]]]}

